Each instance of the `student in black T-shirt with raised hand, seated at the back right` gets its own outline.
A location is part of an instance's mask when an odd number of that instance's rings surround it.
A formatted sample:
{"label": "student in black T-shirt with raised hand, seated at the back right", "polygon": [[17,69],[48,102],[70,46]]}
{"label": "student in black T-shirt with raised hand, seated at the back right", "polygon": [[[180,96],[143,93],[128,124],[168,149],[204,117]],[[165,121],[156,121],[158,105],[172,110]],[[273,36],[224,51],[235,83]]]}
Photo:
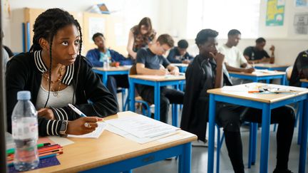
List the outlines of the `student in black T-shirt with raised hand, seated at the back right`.
{"label": "student in black T-shirt with raised hand, seated at the back right", "polygon": [[264,50],[265,38],[257,38],[256,46],[249,46],[245,48],[244,56],[248,63],[274,63],[274,46],[270,47],[271,56]]}

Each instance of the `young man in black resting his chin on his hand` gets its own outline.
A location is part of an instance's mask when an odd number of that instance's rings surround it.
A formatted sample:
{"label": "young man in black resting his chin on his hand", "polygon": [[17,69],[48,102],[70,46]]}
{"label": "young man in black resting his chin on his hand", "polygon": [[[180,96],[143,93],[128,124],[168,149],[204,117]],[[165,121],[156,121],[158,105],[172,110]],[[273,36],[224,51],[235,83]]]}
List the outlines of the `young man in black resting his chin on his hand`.
{"label": "young man in black resting his chin on his hand", "polygon": [[[197,33],[195,42],[199,55],[188,66],[186,75],[186,91],[180,127],[193,132],[199,140],[205,141],[208,120],[209,94],[207,90],[232,85],[224,68],[222,53],[217,53],[217,31],[203,29]],[[223,127],[225,143],[234,172],[244,172],[242,160],[242,140],[240,124],[242,120],[261,122],[262,110],[245,108],[228,103],[217,103],[216,123]],[[241,113],[247,112],[240,117]],[[277,131],[277,164],[274,173],[291,172],[287,163],[294,131],[294,110],[287,106],[275,108],[271,115],[272,123],[279,123]]]}

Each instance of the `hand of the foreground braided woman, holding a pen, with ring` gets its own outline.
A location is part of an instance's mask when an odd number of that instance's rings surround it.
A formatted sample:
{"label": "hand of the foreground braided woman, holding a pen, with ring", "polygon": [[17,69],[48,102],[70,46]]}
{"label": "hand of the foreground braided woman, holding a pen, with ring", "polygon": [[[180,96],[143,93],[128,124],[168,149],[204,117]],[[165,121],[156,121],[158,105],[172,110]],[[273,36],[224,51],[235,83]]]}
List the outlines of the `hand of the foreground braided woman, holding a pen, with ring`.
{"label": "hand of the foreground braided woman, holding a pen, with ring", "polygon": [[[103,120],[101,117],[80,117],[77,120],[69,121],[66,135],[84,135],[93,132],[98,127],[98,123],[96,122],[101,120]],[[86,122],[91,127],[86,127]]]}

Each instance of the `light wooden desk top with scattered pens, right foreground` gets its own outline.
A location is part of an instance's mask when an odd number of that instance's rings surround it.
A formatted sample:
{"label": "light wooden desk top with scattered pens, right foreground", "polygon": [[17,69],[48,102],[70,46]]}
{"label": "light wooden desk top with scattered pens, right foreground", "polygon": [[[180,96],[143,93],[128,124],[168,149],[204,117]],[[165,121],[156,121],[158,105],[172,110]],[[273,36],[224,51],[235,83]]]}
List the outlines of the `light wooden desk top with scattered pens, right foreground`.
{"label": "light wooden desk top with scattered pens, right foreground", "polygon": [[[279,87],[279,88],[288,87],[288,88],[292,88],[292,90],[300,90],[300,91],[294,94],[248,93],[248,88],[246,86],[250,86],[251,88],[253,88],[254,86],[257,86],[257,85],[259,86],[271,85],[271,86]],[[274,103],[280,100],[293,98],[294,96],[297,96],[297,95],[307,94],[308,89],[299,88],[299,87],[289,87],[289,86],[283,86],[283,85],[265,84],[265,83],[247,83],[243,85],[228,86],[227,88],[216,88],[216,89],[207,90],[207,93],[216,94],[216,95],[224,95],[224,96],[229,96],[232,98],[241,98],[245,100],[254,100],[254,101],[262,102],[262,103]]]}

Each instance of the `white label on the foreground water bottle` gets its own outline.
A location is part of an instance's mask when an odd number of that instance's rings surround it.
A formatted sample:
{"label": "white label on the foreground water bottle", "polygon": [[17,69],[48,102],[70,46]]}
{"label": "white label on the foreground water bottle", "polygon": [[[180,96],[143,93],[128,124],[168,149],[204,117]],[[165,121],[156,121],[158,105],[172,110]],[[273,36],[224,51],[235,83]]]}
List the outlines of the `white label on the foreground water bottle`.
{"label": "white label on the foreground water bottle", "polygon": [[36,117],[21,117],[12,121],[12,136],[14,140],[38,139],[39,130]]}

